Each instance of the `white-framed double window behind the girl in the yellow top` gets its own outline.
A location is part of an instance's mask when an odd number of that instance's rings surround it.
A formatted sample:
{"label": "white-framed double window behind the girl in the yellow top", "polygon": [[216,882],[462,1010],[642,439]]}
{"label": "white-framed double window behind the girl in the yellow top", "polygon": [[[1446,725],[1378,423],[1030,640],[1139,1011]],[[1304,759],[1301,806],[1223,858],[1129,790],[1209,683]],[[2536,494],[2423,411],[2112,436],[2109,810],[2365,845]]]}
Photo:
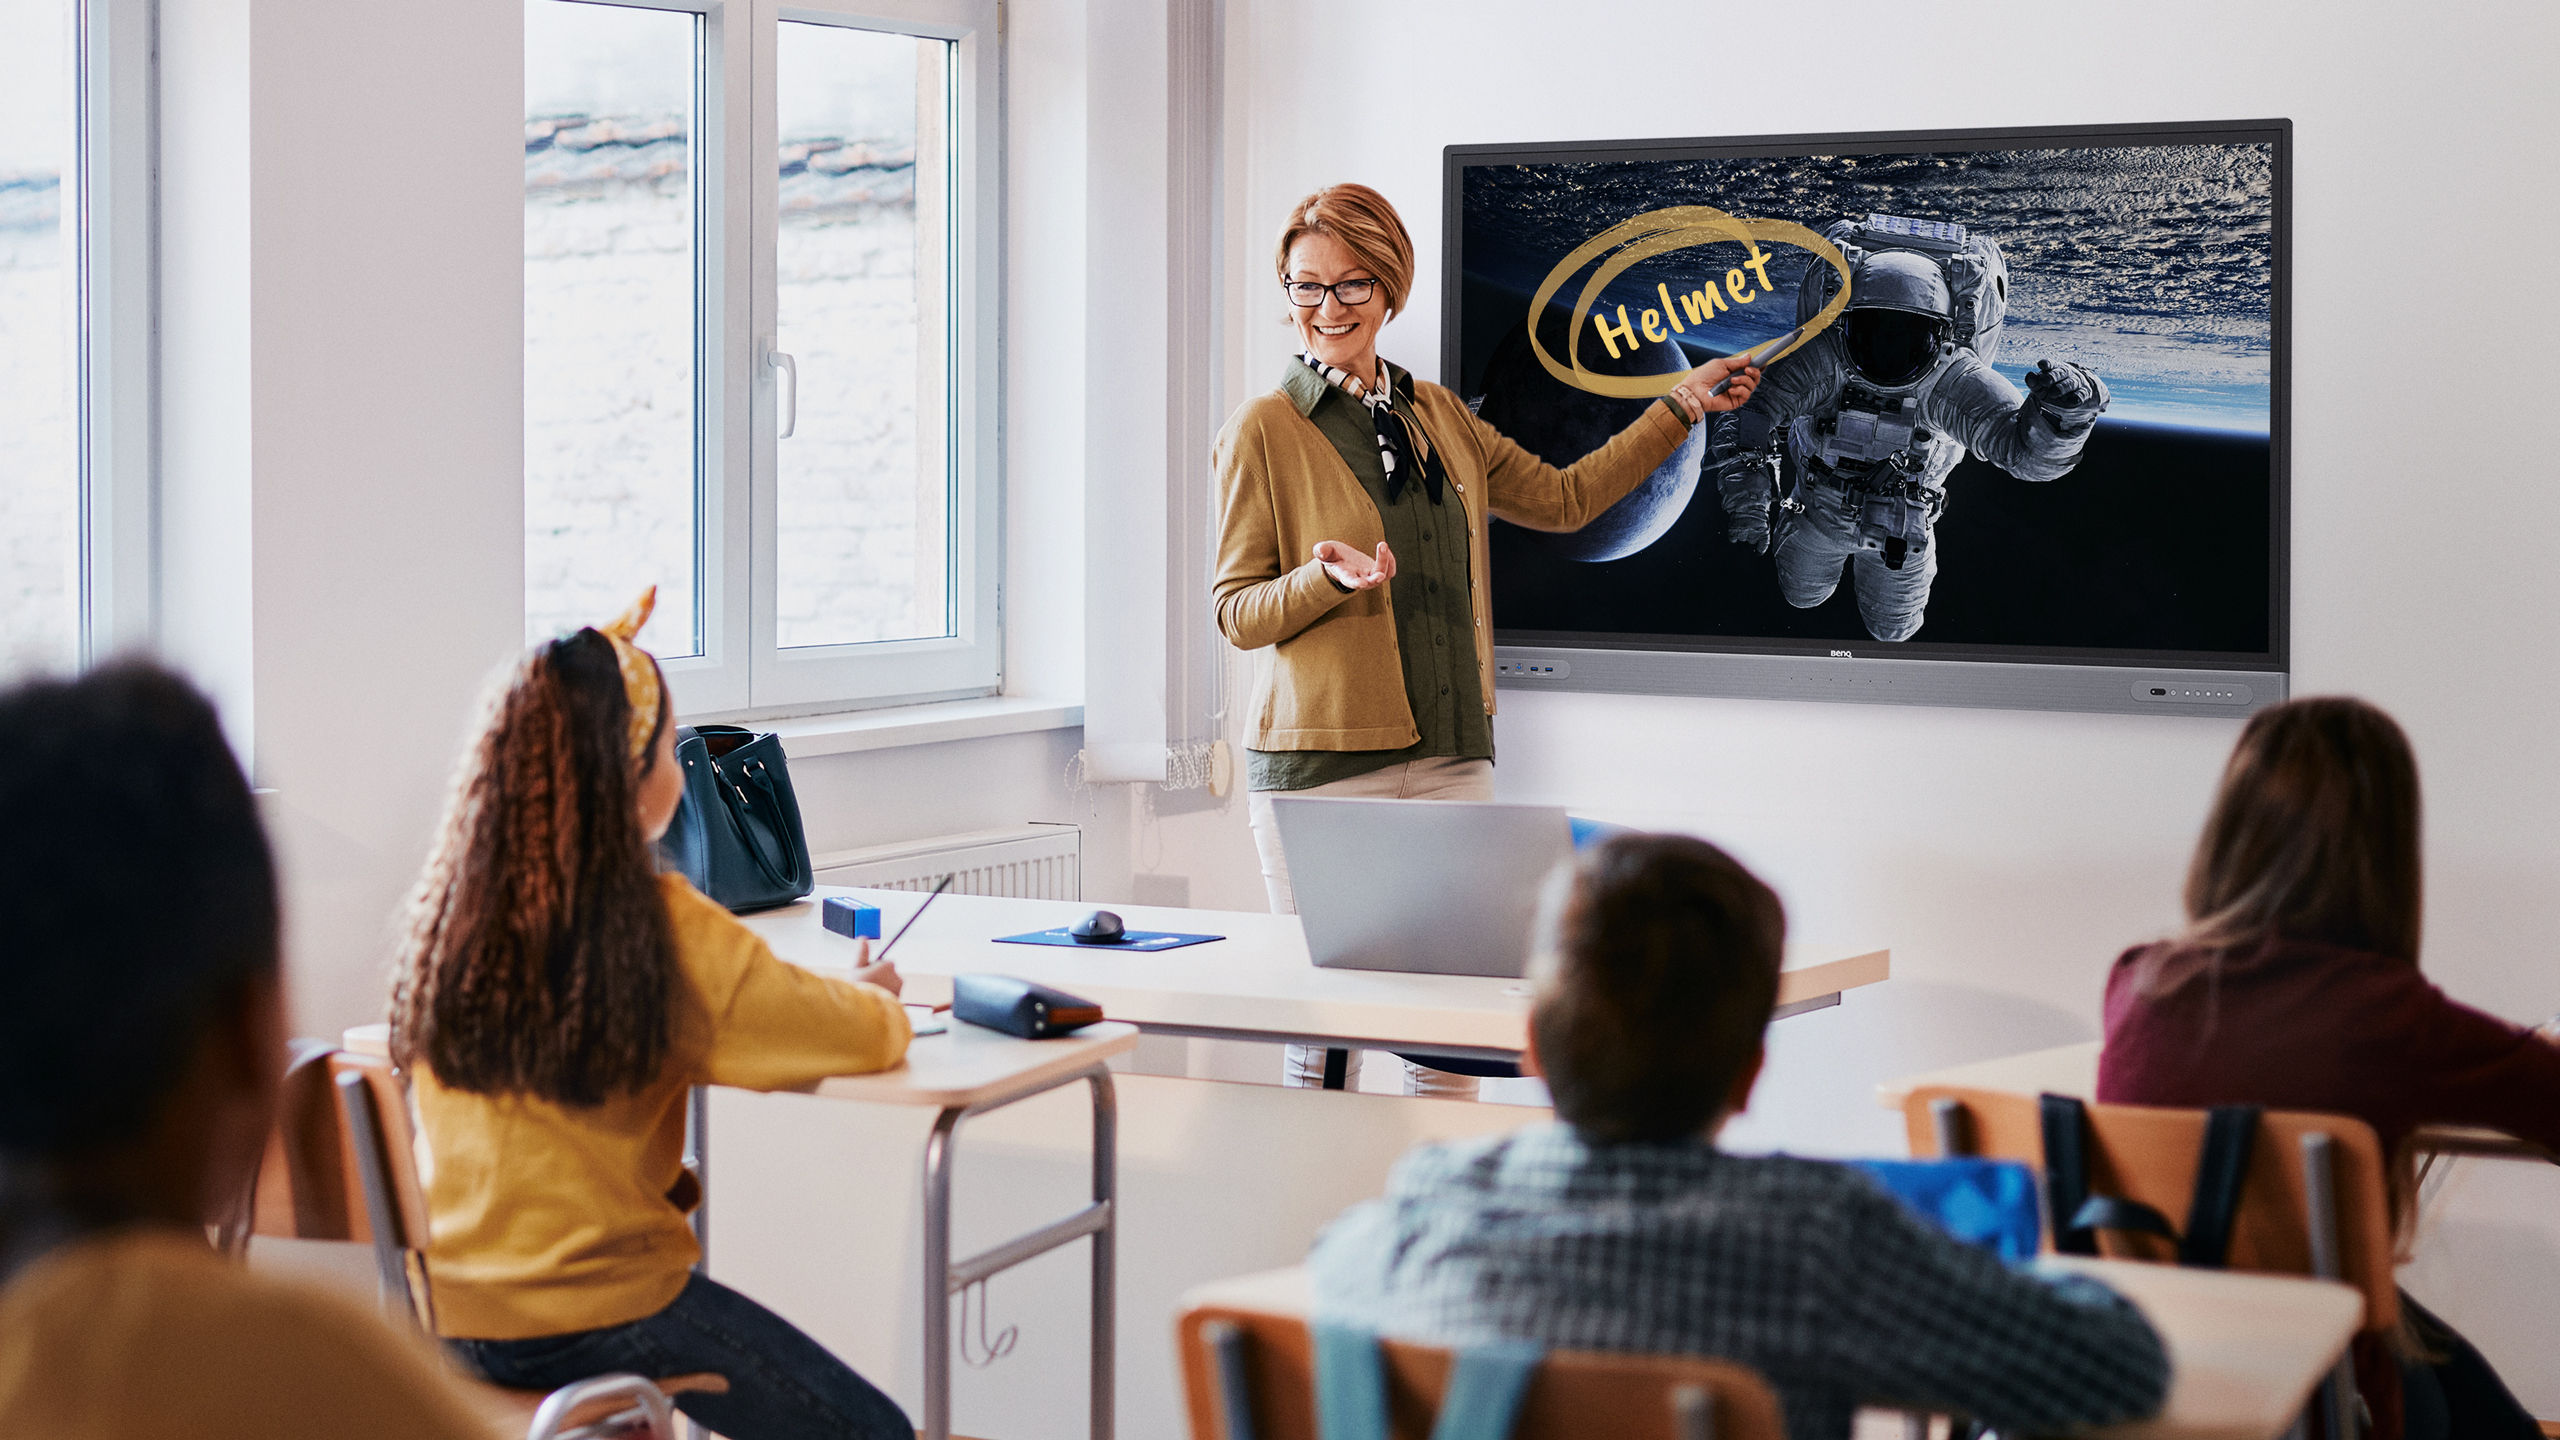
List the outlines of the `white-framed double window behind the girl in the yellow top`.
{"label": "white-framed double window behind the girl in the yellow top", "polygon": [[525,623],[689,712],[998,682],[993,3],[525,3]]}

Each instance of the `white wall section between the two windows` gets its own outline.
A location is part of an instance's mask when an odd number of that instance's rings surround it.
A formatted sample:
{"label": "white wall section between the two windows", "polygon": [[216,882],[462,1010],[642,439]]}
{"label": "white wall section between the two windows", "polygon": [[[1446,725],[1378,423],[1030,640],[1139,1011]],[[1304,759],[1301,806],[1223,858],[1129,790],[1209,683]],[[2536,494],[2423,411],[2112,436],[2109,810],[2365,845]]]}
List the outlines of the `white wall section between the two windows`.
{"label": "white wall section between the two windows", "polygon": [[512,0],[169,0],[164,648],[271,787],[312,1025],[381,1004],[468,697],[522,630]]}

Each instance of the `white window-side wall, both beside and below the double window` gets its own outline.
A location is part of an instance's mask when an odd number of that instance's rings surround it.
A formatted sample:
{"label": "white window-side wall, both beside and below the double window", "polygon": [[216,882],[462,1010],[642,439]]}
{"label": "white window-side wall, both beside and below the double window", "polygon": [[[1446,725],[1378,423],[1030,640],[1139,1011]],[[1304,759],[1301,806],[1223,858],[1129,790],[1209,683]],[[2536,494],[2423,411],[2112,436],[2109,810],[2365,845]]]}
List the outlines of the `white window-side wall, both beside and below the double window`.
{"label": "white window-side wall, both beside and below the double window", "polygon": [[[522,643],[522,0],[164,0],[164,638],[274,794],[305,1033],[376,1020],[484,679]],[[1014,5],[1009,689],[1075,700],[1083,8]],[[1060,241],[1060,236],[1073,236]],[[1075,730],[799,766],[814,848],[1080,820]]]}

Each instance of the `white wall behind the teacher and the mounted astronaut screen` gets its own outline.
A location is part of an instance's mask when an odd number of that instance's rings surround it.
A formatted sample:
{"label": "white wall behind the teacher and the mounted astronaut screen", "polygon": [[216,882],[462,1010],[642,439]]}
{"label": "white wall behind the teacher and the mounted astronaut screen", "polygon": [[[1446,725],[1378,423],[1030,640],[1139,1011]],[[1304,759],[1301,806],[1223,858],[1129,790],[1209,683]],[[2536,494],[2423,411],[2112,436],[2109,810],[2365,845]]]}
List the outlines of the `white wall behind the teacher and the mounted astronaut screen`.
{"label": "white wall behind the teacher and the mounted astronaut screen", "polygon": [[[2560,13],[2378,3],[1823,8],[1234,0],[1229,402],[1288,354],[1267,238],[1362,179],[1423,256],[1388,354],[1439,354],[1446,143],[2289,115],[2294,177],[2294,653],[2299,692],[2399,715],[2429,784],[2427,971],[2514,1020],[2560,1004],[2560,612],[2537,559],[2560,495],[2509,379],[2560,292],[2504,261],[2555,233],[2545,184]],[[2465,377],[2460,400],[2437,392]],[[2504,420],[2499,415],[2506,415]],[[2519,423],[2524,428],[2519,428]],[[1242,712],[1242,705],[1231,707]],[[1738,1138],[1892,1150],[1871,1081],[2092,1038],[2107,961],[2176,920],[2232,723],[1508,694],[1508,799],[1705,833],[1807,938],[1884,940],[1889,986],[1779,1025]],[[1254,904],[1239,805],[1142,830],[1196,902]],[[1139,863],[1139,869],[1149,869]],[[2470,1163],[2481,1171],[2481,1163]],[[2560,1414],[2560,1176],[2468,1174],[2414,1286]]]}

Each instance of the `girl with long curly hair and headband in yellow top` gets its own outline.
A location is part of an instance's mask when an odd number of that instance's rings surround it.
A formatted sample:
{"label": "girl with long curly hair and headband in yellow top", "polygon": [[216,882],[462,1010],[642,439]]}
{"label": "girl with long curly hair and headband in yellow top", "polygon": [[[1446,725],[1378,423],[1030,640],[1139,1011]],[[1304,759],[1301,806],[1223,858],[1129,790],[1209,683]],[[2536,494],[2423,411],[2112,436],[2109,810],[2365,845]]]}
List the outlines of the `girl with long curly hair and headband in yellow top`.
{"label": "girl with long curly hair and headband in yellow top", "polygon": [[906,1056],[899,974],[788,966],[650,846],[684,797],[658,661],[612,625],[499,684],[410,899],[392,1053],[412,1076],[435,1325],[497,1384],[712,1371],[676,1404],[735,1440],[909,1440],[896,1402],[694,1273],[696,1084],[801,1086]]}

